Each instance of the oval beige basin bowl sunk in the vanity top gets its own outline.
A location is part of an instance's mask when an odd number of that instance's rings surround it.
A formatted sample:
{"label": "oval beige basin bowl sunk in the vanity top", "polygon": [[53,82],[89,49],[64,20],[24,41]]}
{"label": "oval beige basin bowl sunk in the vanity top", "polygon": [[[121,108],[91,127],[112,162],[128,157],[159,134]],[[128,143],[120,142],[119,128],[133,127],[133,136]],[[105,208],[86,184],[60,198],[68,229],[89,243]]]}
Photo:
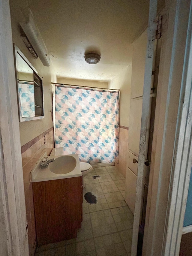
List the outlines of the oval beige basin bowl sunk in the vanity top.
{"label": "oval beige basin bowl sunk in the vanity top", "polygon": [[49,164],[49,170],[55,174],[70,173],[76,167],[76,159],[70,155],[62,155],[55,158],[54,162]]}

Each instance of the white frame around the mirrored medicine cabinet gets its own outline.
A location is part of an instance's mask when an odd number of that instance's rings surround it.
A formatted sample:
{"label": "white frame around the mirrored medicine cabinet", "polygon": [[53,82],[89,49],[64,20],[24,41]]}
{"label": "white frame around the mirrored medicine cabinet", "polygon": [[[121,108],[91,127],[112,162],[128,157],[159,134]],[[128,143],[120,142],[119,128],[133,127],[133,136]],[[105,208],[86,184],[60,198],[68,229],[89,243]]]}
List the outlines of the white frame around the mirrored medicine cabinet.
{"label": "white frame around the mirrored medicine cabinet", "polygon": [[[19,50],[19,48],[13,44],[13,52],[14,52],[14,64],[15,64],[15,77],[16,77],[16,87],[17,87],[17,101],[18,101],[18,112],[19,112],[19,122],[25,122],[25,121],[31,121],[31,120],[38,120],[38,119],[43,119],[44,116],[44,89],[43,89],[43,79],[37,72],[37,70],[33,67],[33,65],[28,61],[26,56]],[[42,81],[42,116],[31,116],[31,117],[22,117],[21,115],[21,101],[20,101],[20,93],[19,93],[19,74],[18,74],[18,60],[17,60],[17,53],[22,57],[22,59],[29,65],[30,68],[38,75],[38,77]]]}

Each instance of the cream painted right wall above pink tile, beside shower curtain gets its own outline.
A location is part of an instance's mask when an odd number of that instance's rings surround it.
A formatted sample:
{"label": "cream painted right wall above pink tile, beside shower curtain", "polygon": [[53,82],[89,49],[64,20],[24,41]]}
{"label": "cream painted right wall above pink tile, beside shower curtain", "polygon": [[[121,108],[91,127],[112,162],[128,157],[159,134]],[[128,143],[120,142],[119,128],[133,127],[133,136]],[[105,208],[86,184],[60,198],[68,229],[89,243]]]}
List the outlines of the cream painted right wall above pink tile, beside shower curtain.
{"label": "cream painted right wall above pink tile, beside shower curtain", "polygon": [[131,72],[132,64],[124,68],[109,82],[110,89],[120,89],[119,117],[120,125],[129,127],[129,109],[131,99]]}

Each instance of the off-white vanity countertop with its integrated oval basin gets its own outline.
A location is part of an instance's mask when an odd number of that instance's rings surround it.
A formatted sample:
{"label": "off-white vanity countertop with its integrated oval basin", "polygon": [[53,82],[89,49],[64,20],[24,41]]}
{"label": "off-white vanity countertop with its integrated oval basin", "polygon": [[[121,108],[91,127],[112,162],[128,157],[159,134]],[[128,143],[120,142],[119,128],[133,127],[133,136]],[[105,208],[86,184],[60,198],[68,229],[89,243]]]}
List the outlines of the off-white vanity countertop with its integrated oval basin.
{"label": "off-white vanity countertop with its integrated oval basin", "polygon": [[[30,173],[31,182],[41,182],[54,179],[66,179],[82,176],[79,155],[55,155],[55,161],[46,168],[41,168],[41,161],[46,157],[46,152],[41,156]],[[49,157],[53,158],[52,156]]]}

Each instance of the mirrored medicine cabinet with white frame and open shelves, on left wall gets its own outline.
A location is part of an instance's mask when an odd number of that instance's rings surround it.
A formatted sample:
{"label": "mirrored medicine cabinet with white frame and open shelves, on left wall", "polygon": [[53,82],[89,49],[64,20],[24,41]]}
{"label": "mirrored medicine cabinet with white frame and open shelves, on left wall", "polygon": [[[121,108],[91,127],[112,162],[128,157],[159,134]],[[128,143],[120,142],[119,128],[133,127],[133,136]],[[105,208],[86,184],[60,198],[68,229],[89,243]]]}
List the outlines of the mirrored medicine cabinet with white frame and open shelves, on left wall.
{"label": "mirrored medicine cabinet with white frame and open shelves, on left wall", "polygon": [[38,72],[14,45],[19,121],[44,118],[43,81]]}

